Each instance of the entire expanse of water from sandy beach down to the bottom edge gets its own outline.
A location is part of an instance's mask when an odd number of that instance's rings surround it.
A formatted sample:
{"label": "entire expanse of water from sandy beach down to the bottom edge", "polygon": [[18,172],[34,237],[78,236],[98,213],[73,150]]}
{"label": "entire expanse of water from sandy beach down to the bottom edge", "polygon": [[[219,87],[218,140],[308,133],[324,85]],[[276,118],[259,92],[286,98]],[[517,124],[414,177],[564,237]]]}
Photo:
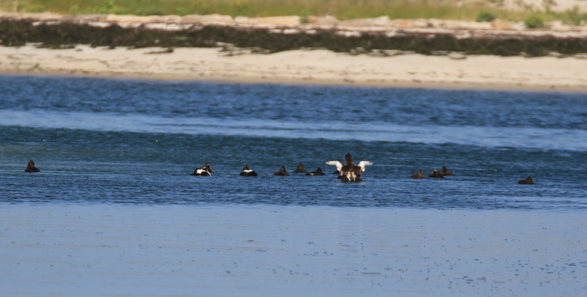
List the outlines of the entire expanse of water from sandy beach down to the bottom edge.
{"label": "entire expanse of water from sandy beach down to the bottom edge", "polygon": [[[112,288],[95,295],[109,296],[194,289],[275,295],[299,286],[305,291],[291,295],[356,296],[368,288],[371,295],[535,296],[543,292],[537,286],[549,296],[585,292],[569,285],[587,278],[587,238],[579,227],[587,208],[585,94],[26,76],[0,76],[0,94],[0,260],[8,263],[2,271],[18,268],[2,275],[8,286],[0,293],[67,295],[59,289],[67,283],[69,295],[79,295],[95,277]],[[324,162],[343,161],[346,152],[373,162],[364,182],[292,173],[298,162],[330,173],[335,168]],[[29,159],[41,172],[23,172]],[[190,176],[207,162],[212,176]],[[239,176],[245,164],[259,176]],[[272,175],[281,165],[291,176]],[[409,178],[441,166],[455,176]],[[536,184],[517,185],[527,176]],[[266,215],[272,212],[281,215]],[[197,227],[208,213],[218,216]],[[79,220],[69,221],[75,215]],[[135,216],[135,225],[123,223]],[[52,226],[50,240],[43,226]],[[248,231],[232,233],[243,226]],[[103,228],[116,235],[97,238]],[[147,252],[143,230],[158,234],[147,240]],[[176,243],[182,230],[205,243]],[[369,247],[353,248],[365,254],[329,259],[328,251],[342,253],[349,243],[340,238],[353,232],[364,235],[357,240]],[[408,247],[392,244],[405,239],[403,232],[422,237],[407,240]],[[299,242],[284,248],[272,241],[276,234]],[[243,249],[252,235],[260,251]],[[330,236],[338,239],[306,246]],[[468,245],[474,238],[483,244]],[[230,252],[198,254],[201,265],[193,266],[193,244],[200,252],[221,245]],[[433,250],[422,248],[429,244]],[[105,246],[136,257],[106,256]],[[258,255],[266,251],[275,252]],[[301,260],[306,252],[321,257]],[[248,259],[242,271],[228,265],[238,257]],[[287,257],[306,267],[280,264]],[[362,273],[365,263],[376,269]],[[44,268],[35,274],[37,265]],[[86,265],[98,269],[84,274]],[[279,267],[284,273],[271,278]],[[177,271],[189,275],[174,281]],[[233,286],[225,285],[226,271],[239,271]],[[302,276],[290,279],[294,273]],[[186,285],[192,278],[200,281]]]}

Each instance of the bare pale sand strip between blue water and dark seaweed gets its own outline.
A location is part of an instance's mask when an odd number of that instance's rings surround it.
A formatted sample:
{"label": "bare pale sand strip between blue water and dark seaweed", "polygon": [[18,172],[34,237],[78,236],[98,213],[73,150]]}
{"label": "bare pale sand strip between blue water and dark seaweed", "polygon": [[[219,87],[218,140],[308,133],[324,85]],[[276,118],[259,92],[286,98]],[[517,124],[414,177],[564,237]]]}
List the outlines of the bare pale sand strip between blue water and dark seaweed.
{"label": "bare pale sand strip between blue water and dark seaweed", "polygon": [[0,73],[135,77],[242,83],[345,84],[379,87],[478,88],[587,92],[587,59],[579,57],[376,57],[328,50],[273,54],[220,48],[41,49],[0,47]]}

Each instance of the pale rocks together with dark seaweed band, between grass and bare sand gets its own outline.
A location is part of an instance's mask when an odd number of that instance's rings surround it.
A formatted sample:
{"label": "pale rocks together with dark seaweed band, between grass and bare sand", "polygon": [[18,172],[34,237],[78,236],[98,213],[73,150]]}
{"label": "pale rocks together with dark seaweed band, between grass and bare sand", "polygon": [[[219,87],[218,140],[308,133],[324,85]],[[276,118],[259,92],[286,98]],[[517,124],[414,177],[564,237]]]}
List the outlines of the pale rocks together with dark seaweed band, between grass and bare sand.
{"label": "pale rocks together with dark seaweed band, between grass and bare sand", "polygon": [[[299,16],[232,18],[227,15],[130,16],[52,13],[0,15],[0,45],[67,48],[225,47],[275,53],[328,49],[350,54],[394,56],[496,54],[498,56],[587,55],[587,26],[554,22],[542,29],[492,22],[354,19]],[[238,52],[238,50],[236,51]]]}

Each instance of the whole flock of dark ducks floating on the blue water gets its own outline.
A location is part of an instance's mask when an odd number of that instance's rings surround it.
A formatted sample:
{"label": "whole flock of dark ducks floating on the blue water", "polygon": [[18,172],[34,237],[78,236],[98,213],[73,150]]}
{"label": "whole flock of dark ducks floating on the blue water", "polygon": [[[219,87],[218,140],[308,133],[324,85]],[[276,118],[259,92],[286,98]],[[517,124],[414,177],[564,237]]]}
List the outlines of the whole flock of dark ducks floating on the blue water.
{"label": "whole flock of dark ducks floating on the blue water", "polygon": [[[333,172],[333,174],[338,175],[339,179],[341,179],[345,182],[360,182],[361,175],[363,173],[365,173],[366,166],[372,165],[373,163],[369,162],[369,161],[360,161],[359,165],[356,165],[355,162],[353,162],[353,159],[352,159],[352,156],[350,155],[350,153],[346,153],[344,164],[340,163],[339,161],[328,161],[328,162],[326,162],[326,164],[336,166],[336,171]],[[32,160],[29,160],[29,163],[26,166],[25,172],[40,172],[40,171],[41,170],[39,170],[39,168],[35,167],[35,162],[33,162]],[[202,166],[200,168],[196,168],[194,170],[194,172],[191,173],[191,175],[211,176],[212,172],[214,172],[214,170],[212,170],[212,168],[210,167],[210,163],[205,163],[204,166]],[[309,176],[325,175],[325,173],[322,172],[321,167],[318,167],[318,169],[316,169],[316,171],[308,172],[305,169],[303,169],[302,163],[298,163],[298,168],[296,168],[296,170],[294,170],[294,173],[306,173],[306,175],[309,175]],[[255,172],[252,169],[249,169],[249,167],[247,165],[245,165],[245,166],[242,166],[242,171],[241,171],[240,175],[241,176],[257,176],[257,172]],[[285,166],[281,166],[281,168],[279,168],[279,171],[273,173],[273,175],[288,176],[289,173],[285,169]],[[446,166],[443,166],[442,170],[440,170],[440,171],[438,171],[438,169],[432,170],[432,172],[430,173],[430,175],[428,175],[428,177],[444,178],[444,176],[453,176],[453,175],[454,174],[452,171],[447,170]],[[422,170],[418,169],[418,172],[416,174],[410,175],[410,177],[413,179],[424,179],[424,178],[426,178],[426,175],[424,175]],[[534,182],[532,181],[532,177],[528,176],[527,179],[518,180],[518,184],[519,185],[534,185]]]}

